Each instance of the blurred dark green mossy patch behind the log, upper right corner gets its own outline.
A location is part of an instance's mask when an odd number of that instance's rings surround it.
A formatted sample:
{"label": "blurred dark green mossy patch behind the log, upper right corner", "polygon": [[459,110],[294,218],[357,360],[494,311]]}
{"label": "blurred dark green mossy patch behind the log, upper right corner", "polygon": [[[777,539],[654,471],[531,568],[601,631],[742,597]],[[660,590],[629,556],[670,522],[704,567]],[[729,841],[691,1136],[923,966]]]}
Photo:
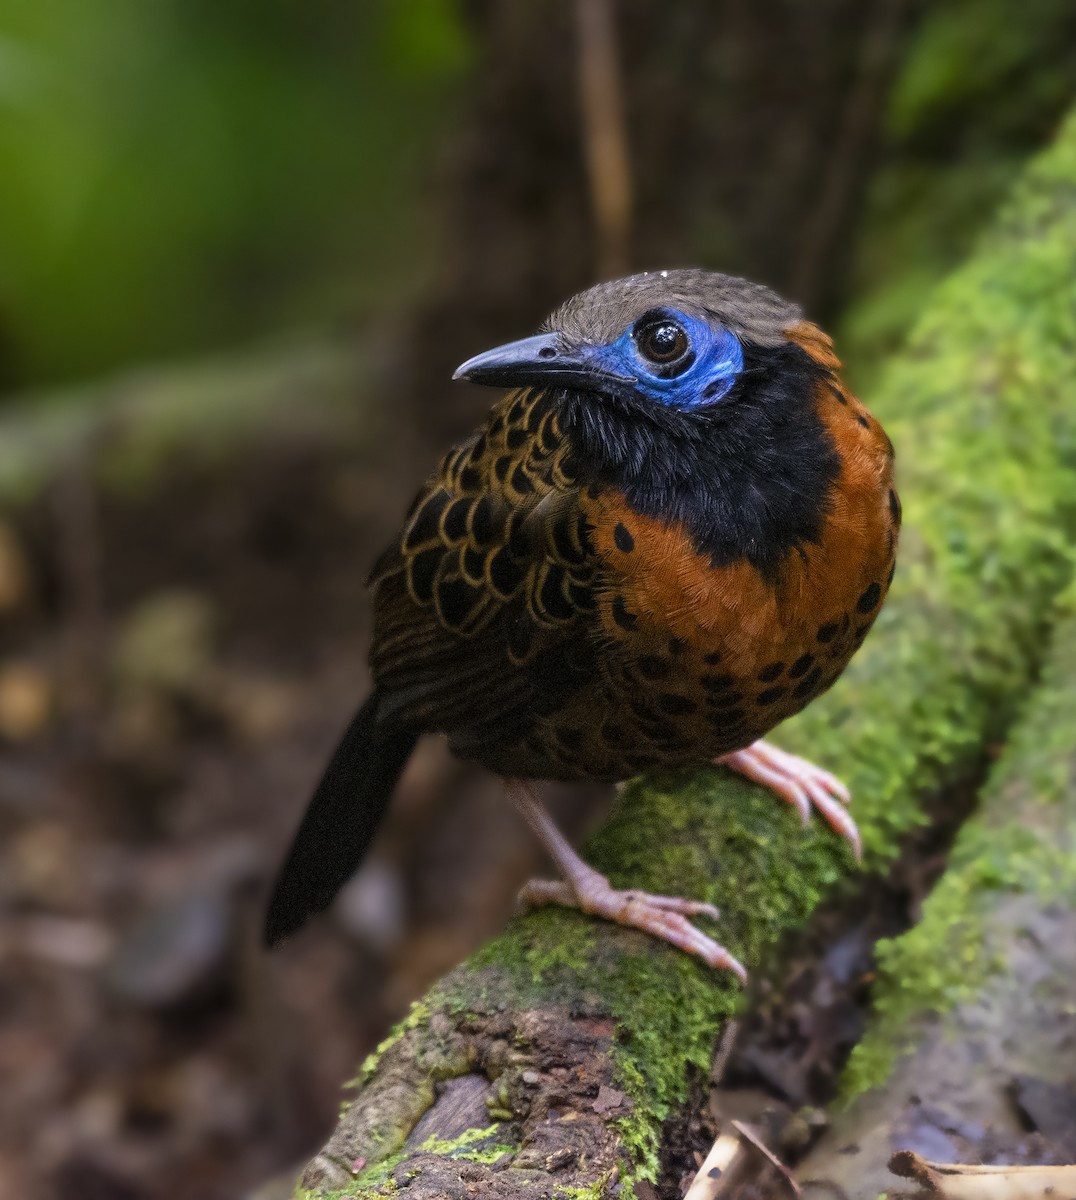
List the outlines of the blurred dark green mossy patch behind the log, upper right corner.
{"label": "blurred dark green mossy patch behind the log, upper right corner", "polygon": [[[1016,28],[1018,24],[1018,28]],[[926,6],[884,114],[838,344],[860,385],[964,259],[1028,156],[1071,102],[1076,13],[1069,0]]]}

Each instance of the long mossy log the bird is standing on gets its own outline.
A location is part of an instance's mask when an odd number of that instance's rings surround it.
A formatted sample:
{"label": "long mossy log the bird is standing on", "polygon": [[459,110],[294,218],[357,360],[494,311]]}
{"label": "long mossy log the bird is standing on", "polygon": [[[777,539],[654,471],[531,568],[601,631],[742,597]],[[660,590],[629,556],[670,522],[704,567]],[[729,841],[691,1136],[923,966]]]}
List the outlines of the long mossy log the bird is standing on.
{"label": "long mossy log the bird is standing on", "polygon": [[[847,676],[777,740],[852,787],[865,870],[978,778],[1039,664],[1076,518],[1076,120],[931,299],[872,408],[897,446],[894,592]],[[637,781],[587,848],[618,884],[704,896],[758,968],[855,880],[847,848],[713,769]],[[642,935],[540,912],[415,1006],[362,1070],[315,1196],[593,1196],[653,1178],[662,1122],[740,1001]],[[643,1189],[645,1190],[645,1189]]]}

